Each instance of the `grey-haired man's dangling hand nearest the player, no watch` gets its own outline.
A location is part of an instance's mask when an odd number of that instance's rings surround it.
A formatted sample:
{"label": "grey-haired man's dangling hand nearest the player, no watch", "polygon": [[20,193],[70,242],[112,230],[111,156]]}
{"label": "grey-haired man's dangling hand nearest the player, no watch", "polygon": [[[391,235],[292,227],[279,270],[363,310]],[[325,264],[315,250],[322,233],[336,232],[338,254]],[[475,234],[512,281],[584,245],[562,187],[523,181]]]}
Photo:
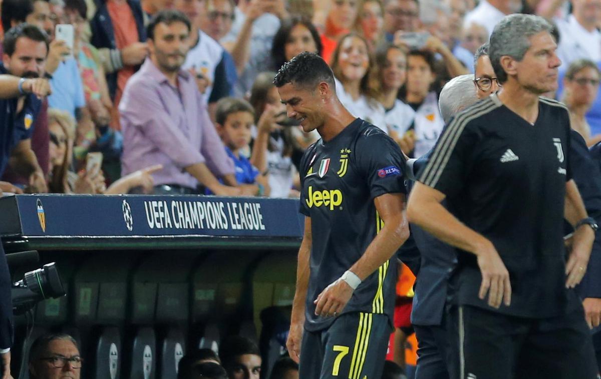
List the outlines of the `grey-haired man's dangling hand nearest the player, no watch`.
{"label": "grey-haired man's dangling hand nearest the player, no watch", "polygon": [[482,284],[478,297],[484,300],[486,293],[489,294],[488,304],[494,308],[501,306],[501,301],[505,300],[506,306],[511,304],[511,283],[509,282],[509,272],[501,260],[495,247],[490,244],[489,247],[480,250],[477,253],[478,266],[482,273]]}

